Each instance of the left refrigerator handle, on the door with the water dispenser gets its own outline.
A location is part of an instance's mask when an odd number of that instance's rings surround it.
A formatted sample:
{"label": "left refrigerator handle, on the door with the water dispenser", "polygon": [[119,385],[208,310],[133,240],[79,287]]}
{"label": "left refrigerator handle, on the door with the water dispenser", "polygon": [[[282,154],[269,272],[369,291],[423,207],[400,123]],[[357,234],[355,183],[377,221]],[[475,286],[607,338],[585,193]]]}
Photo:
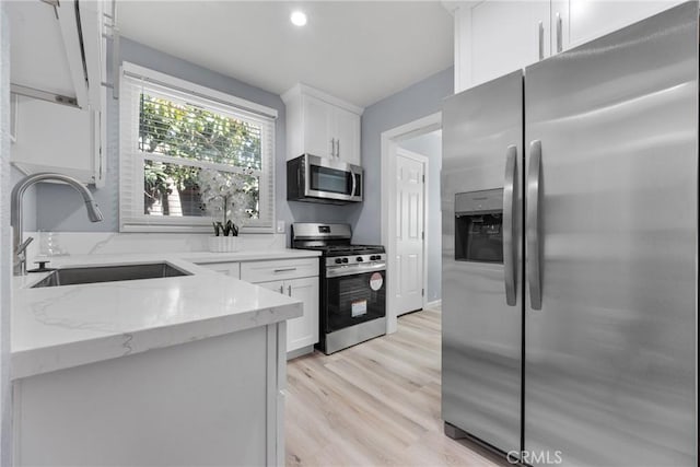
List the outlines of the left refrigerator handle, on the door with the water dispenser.
{"label": "left refrigerator handle, on the door with the water dispenser", "polygon": [[517,173],[517,147],[511,144],[505,151],[505,177],[503,183],[503,270],[505,303],[514,306],[515,299],[515,177]]}

